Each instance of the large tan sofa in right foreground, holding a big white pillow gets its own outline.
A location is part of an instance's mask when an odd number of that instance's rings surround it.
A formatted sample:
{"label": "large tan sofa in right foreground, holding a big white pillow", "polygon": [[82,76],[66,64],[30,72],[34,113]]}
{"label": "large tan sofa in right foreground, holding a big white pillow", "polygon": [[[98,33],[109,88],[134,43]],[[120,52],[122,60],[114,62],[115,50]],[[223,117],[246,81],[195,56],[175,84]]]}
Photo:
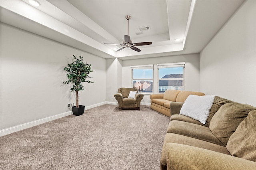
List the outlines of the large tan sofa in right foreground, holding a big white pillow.
{"label": "large tan sofa in right foreground, holding a big white pillow", "polygon": [[203,125],[182,105],[170,103],[161,170],[256,170],[256,107],[215,96]]}

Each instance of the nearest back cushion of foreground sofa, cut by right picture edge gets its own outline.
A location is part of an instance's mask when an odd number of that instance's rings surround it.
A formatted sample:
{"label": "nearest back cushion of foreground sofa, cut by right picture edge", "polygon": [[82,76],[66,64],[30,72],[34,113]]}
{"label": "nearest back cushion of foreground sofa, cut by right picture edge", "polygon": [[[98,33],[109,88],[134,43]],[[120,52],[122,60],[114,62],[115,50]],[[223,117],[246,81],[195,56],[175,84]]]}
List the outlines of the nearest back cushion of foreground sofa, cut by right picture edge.
{"label": "nearest back cushion of foreground sofa, cut by right picture edge", "polygon": [[228,140],[227,149],[232,156],[256,162],[256,111],[250,111],[236,128]]}

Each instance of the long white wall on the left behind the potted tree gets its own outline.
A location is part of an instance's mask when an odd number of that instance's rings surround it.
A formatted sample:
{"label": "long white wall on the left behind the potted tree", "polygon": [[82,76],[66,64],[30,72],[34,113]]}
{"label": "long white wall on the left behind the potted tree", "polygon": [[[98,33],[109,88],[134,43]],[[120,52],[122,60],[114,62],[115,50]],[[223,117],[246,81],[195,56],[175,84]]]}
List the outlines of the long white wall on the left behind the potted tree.
{"label": "long white wall on the left behind the potted tree", "polygon": [[62,82],[73,55],[83,56],[94,71],[79,104],[106,101],[106,59],[3,23],[0,37],[0,130],[70,111],[75,93]]}

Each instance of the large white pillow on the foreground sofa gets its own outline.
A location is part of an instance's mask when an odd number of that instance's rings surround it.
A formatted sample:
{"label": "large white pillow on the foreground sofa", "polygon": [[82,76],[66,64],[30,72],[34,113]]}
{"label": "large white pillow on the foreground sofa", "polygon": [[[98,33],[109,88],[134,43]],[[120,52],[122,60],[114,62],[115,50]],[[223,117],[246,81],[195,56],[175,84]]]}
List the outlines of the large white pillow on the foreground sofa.
{"label": "large white pillow on the foreground sofa", "polygon": [[180,109],[180,115],[191,117],[205,125],[214,101],[214,95],[189,95]]}

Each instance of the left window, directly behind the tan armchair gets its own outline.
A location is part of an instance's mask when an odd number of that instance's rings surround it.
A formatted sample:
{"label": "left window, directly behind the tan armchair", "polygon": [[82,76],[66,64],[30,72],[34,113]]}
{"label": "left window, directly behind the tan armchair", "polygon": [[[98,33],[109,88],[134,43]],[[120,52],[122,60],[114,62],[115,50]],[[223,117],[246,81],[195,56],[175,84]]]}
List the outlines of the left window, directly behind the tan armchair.
{"label": "left window, directly behind the tan armchair", "polygon": [[132,86],[139,92],[153,92],[153,65],[131,66]]}

